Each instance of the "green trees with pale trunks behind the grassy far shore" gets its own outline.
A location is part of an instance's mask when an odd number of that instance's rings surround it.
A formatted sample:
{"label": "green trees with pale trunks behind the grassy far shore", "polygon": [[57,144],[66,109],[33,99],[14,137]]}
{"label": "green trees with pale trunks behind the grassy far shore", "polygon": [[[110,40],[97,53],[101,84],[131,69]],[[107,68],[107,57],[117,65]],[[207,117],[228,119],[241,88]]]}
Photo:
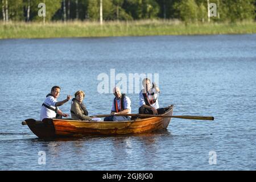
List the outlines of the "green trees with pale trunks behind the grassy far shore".
{"label": "green trees with pale trunks behind the grassy far shore", "polygon": [[255,19],[256,0],[0,0],[0,19],[39,21],[39,3],[46,4],[46,20],[180,19],[184,22],[205,22],[208,3],[217,5],[214,22],[235,22]]}

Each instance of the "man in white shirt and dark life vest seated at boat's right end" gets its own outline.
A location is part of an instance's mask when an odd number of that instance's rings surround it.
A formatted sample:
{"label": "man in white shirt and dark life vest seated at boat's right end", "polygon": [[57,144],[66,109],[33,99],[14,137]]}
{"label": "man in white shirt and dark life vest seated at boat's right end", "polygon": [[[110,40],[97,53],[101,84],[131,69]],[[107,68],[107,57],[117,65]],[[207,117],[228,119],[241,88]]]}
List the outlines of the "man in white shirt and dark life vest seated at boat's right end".
{"label": "man in white shirt and dark life vest seated at boat's right end", "polygon": [[158,96],[160,89],[153,83],[151,88],[150,79],[144,78],[142,81],[144,89],[139,93],[139,114],[163,114],[164,108],[159,108]]}

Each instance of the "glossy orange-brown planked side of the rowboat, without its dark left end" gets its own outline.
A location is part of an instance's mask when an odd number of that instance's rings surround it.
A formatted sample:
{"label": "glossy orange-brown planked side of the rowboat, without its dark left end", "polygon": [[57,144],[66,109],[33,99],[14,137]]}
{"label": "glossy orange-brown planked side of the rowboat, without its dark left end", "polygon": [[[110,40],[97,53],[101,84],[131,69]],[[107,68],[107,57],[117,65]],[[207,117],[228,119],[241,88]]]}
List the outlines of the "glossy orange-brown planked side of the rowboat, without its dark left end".
{"label": "glossy orange-brown planked side of the rowboat, without its dark left end", "polygon": [[[163,115],[172,115],[173,105],[167,108]],[[63,119],[50,119],[55,126],[55,134],[58,136],[80,136],[80,135],[117,135],[145,133],[160,129],[166,129],[171,118],[150,117],[122,122],[94,122],[73,121]]]}

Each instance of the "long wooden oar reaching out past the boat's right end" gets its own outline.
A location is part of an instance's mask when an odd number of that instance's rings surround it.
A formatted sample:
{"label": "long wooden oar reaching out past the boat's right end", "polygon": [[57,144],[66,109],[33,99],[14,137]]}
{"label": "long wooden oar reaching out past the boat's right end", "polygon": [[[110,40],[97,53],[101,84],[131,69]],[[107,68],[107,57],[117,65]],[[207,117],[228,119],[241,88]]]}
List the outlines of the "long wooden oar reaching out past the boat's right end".
{"label": "long wooden oar reaching out past the boat's right end", "polygon": [[[160,117],[160,118],[181,118],[181,119],[197,119],[197,120],[214,120],[211,116],[197,116],[197,115],[152,115],[152,114],[115,114],[122,116],[134,116],[134,117]],[[110,114],[94,115],[97,118],[109,117]],[[93,116],[91,116],[93,117]]]}

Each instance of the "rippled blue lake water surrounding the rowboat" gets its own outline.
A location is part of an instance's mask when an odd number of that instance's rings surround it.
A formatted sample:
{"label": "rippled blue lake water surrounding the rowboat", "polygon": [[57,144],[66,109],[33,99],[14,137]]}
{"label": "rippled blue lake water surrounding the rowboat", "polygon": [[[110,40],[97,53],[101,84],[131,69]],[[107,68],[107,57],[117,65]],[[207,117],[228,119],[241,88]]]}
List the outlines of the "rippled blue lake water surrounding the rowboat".
{"label": "rippled blue lake water surrounding the rowboat", "polygon": [[[53,85],[58,101],[81,89],[90,115],[108,114],[113,94],[99,93],[97,78],[113,69],[158,73],[160,106],[214,121],[172,118],[158,133],[51,141],[21,125],[40,118]],[[256,169],[255,34],[0,40],[0,83],[1,170]],[[138,93],[127,96],[137,113]]]}

